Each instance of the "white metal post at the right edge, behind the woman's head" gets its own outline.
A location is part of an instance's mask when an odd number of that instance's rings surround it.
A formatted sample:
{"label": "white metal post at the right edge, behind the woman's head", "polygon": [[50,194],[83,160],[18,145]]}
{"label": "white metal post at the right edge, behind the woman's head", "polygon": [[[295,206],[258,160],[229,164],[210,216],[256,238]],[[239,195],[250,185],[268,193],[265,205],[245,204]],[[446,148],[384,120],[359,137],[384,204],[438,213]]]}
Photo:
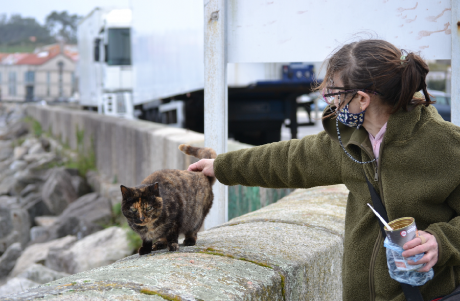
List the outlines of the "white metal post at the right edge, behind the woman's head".
{"label": "white metal post at the right edge, behind the woman's head", "polygon": [[452,7],[452,52],[450,66],[452,70],[450,95],[451,95],[451,120],[460,126],[460,1],[451,0]]}

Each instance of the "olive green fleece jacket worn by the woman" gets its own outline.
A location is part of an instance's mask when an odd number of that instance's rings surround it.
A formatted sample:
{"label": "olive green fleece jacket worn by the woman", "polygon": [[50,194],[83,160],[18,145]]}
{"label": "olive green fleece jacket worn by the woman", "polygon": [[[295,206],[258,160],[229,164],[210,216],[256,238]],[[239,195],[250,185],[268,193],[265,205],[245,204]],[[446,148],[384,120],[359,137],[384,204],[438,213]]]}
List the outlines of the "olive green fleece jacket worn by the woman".
{"label": "olive green fleece jacket worn by the woman", "polygon": [[[424,300],[460,284],[460,127],[433,106],[400,110],[388,120],[377,164],[358,164],[338,143],[335,119],[324,132],[217,156],[214,172],[225,185],[309,188],[343,183],[350,190],[342,263],[343,300],[405,300],[390,278],[383,237],[364,174],[373,183],[390,221],[415,218],[417,228],[439,244],[434,277],[420,287]],[[369,134],[339,123],[347,151],[374,159]],[[376,175],[377,174],[377,175]],[[377,181],[375,181],[377,178]]]}

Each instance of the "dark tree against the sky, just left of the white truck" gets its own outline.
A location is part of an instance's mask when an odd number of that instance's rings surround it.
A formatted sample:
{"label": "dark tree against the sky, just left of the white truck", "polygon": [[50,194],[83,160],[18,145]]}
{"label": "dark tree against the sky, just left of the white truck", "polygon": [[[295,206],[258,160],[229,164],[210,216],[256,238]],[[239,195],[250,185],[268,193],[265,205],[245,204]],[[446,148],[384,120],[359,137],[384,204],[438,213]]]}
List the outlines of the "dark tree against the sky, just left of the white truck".
{"label": "dark tree against the sky, just left of the white truck", "polygon": [[69,14],[67,11],[53,11],[47,16],[45,27],[57,39],[62,38],[68,43],[77,42],[77,23],[81,16]]}

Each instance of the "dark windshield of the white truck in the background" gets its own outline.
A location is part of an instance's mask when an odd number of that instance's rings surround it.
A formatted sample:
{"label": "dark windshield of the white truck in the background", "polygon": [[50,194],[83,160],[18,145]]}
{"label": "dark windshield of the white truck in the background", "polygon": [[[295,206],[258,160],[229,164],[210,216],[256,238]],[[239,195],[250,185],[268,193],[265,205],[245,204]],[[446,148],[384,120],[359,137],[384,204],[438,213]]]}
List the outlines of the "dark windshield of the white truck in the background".
{"label": "dark windshield of the white truck in the background", "polygon": [[110,28],[106,48],[107,65],[131,65],[129,28]]}

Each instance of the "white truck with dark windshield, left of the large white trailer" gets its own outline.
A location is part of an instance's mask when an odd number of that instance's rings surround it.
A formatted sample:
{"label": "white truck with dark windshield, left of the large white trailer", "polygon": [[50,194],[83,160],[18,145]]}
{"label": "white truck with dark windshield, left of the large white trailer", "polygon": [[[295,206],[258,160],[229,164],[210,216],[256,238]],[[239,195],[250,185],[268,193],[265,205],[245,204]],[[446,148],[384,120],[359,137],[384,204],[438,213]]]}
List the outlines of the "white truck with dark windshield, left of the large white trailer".
{"label": "white truck with dark windshield, left of the large white trailer", "polygon": [[95,8],[77,30],[80,104],[101,114],[133,118],[132,12]]}

